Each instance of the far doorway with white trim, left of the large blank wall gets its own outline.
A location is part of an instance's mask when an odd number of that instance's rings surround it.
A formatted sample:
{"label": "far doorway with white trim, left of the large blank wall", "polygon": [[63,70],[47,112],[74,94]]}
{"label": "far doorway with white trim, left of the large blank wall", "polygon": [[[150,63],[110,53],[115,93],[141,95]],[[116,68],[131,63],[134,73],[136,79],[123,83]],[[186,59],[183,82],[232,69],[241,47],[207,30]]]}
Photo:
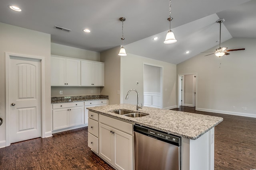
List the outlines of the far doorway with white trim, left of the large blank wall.
{"label": "far doorway with white trim, left of the large blank wall", "polygon": [[197,74],[178,75],[178,108],[196,107]]}

